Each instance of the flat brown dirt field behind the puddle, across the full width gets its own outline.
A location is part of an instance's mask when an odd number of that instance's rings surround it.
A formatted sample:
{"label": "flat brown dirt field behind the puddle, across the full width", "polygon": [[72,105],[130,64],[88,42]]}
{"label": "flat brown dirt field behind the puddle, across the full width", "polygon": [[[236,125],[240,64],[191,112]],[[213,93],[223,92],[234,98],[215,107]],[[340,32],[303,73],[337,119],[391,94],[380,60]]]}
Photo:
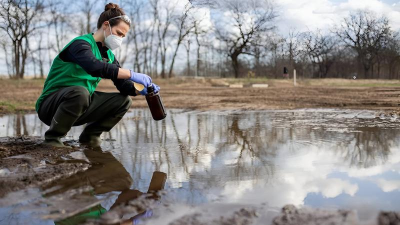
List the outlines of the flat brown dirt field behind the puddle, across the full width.
{"label": "flat brown dirt field behind the puddle, across the full width", "polygon": [[[0,80],[0,114],[33,112],[43,80]],[[400,103],[398,80],[304,79],[293,86],[283,79],[155,79],[166,108],[212,109],[293,109],[340,107],[397,110]],[[243,84],[243,88],[228,87]],[[250,87],[267,83],[267,88]],[[109,80],[101,80],[98,91],[117,91]],[[143,96],[133,97],[132,107],[147,107]]]}

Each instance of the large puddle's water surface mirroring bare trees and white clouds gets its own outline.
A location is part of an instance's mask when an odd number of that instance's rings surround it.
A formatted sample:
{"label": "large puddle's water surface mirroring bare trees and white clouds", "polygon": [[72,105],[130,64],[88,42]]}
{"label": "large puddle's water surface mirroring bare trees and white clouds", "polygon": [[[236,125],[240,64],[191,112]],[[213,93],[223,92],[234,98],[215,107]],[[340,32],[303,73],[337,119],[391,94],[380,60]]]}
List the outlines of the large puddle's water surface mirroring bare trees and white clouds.
{"label": "large puddle's water surface mirroring bare trees and white clouds", "polygon": [[[14,130],[0,127],[1,135],[46,130],[35,115],[0,121],[19,124]],[[68,138],[76,139],[80,130],[74,127]],[[157,122],[144,109],[129,112],[104,133],[103,139],[113,141],[102,147],[121,161],[135,188],[144,188],[148,180],[143,177],[160,170],[168,174],[168,188],[178,190],[172,191],[176,200],[280,207],[303,204],[310,193],[361,202],[357,193],[364,184],[359,180],[372,181],[381,191],[397,190],[398,134],[396,121],[369,111],[168,111]],[[387,171],[396,173],[380,177]]]}

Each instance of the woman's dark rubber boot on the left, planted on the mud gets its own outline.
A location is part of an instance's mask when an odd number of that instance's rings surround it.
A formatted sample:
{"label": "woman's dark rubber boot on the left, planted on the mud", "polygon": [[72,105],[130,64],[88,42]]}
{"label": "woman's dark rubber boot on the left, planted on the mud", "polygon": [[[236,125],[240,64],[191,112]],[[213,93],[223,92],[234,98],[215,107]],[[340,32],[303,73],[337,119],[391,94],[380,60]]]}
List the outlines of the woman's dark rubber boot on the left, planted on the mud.
{"label": "woman's dark rubber boot on the left, planted on the mud", "polygon": [[64,145],[60,138],[66,135],[75,120],[75,117],[62,113],[61,110],[57,110],[51,120],[50,127],[44,133],[45,139],[42,144],[51,145],[53,147],[72,148],[71,146]]}

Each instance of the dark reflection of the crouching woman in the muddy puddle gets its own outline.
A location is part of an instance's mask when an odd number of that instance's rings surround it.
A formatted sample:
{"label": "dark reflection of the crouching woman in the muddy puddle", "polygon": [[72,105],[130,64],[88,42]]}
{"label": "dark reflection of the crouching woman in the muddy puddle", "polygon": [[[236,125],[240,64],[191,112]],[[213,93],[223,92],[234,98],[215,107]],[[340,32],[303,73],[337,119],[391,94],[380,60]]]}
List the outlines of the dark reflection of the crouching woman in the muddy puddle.
{"label": "dark reflection of the crouching woman in the muddy puddle", "polygon": [[[45,197],[60,194],[72,188],[84,186],[93,187],[92,194],[94,195],[111,191],[121,191],[113,205],[109,208],[111,210],[116,206],[124,204],[125,202],[135,199],[143,194],[143,192],[139,190],[129,189],[132,184],[131,176],[110,152],[104,152],[100,148],[97,148],[85,149],[83,153],[89,160],[91,167],[86,171],[78,172],[65,179],[57,180],[48,185],[42,186],[43,190],[56,188],[53,191],[47,192]],[[163,189],[165,179],[165,173],[154,172],[147,193],[154,193],[155,191]],[[156,195],[153,196],[157,197]],[[55,224],[79,224],[89,218],[99,218],[99,216],[106,211],[107,209],[98,204],[74,216],[56,221]],[[143,210],[139,214],[125,220],[123,224],[136,224],[140,218],[149,217],[151,214],[151,210]]]}

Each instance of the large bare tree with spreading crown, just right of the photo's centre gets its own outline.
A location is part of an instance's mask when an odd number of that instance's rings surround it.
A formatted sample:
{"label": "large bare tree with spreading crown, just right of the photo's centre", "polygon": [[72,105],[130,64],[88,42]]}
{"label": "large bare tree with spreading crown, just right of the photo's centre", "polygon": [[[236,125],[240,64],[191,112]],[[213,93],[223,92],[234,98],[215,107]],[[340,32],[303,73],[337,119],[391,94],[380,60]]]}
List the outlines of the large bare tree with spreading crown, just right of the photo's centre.
{"label": "large bare tree with spreading crown, just right of the photo's centre", "polygon": [[[227,55],[230,57],[234,76],[239,77],[240,54],[249,53],[251,40],[273,28],[270,22],[276,17],[272,5],[267,1],[224,0],[223,8],[231,12],[233,27],[224,25],[216,27],[216,37],[224,42]],[[250,12],[250,13],[249,13]]]}

